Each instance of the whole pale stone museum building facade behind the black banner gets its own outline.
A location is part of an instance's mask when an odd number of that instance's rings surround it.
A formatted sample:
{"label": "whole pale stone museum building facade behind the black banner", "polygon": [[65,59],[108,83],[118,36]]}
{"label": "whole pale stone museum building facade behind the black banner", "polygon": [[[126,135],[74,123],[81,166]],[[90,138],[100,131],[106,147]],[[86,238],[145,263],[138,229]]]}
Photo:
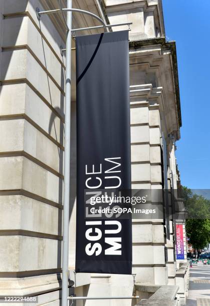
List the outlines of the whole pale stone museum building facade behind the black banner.
{"label": "whole pale stone museum building facade behind the black banner", "polygon": [[[65,7],[65,0],[62,5]],[[59,4],[57,0],[0,1],[0,294],[38,295],[39,304],[59,305],[65,137],[65,54],[60,46],[65,48],[65,26],[61,13],[42,15],[39,21],[37,7],[54,9]],[[164,137],[167,186],[176,189],[175,141],[181,126],[176,46],[165,39],[161,0],[73,0],[73,7],[96,13],[106,23],[133,22],[129,32],[132,187],[164,187]],[[92,25],[98,25],[92,17],[73,14],[74,28]],[[86,31],[97,32],[100,30]],[[74,273],[74,39],[71,95],[70,278],[77,295],[132,295],[132,275]],[[172,218],[169,230],[166,236],[163,219],[133,219],[136,283],[176,283]],[[97,305],[94,301],[84,304]],[[104,300],[100,304],[131,305],[131,301]]]}

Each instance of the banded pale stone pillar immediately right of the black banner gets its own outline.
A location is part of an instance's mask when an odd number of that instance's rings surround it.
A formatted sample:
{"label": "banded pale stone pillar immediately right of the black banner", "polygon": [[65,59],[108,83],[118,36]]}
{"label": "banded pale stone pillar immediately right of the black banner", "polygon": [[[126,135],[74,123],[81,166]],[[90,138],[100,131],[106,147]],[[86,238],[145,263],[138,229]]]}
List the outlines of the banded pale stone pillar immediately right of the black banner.
{"label": "banded pale stone pillar immediately right of the black banner", "polygon": [[[143,97],[146,86],[131,93],[131,179],[133,189],[151,190],[162,188],[161,134],[159,106]],[[167,284],[163,220],[133,219],[132,232],[136,282]]]}

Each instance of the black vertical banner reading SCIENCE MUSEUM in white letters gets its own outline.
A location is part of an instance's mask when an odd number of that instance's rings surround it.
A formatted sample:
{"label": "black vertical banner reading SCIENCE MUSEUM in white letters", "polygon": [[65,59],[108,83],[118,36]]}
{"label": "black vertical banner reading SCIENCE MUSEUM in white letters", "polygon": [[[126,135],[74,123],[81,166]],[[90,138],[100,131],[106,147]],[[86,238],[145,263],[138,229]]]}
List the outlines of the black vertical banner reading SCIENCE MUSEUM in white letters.
{"label": "black vertical banner reading SCIENCE MUSEUM in white letters", "polygon": [[131,188],[128,31],[76,37],[76,65],[76,272],[131,274],[131,218],[84,209],[86,189]]}

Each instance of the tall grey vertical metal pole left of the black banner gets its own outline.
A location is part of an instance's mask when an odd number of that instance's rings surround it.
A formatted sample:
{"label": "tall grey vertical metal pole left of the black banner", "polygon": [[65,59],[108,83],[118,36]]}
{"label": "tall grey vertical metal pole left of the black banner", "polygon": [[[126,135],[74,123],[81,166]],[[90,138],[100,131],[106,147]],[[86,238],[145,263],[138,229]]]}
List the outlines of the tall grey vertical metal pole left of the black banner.
{"label": "tall grey vertical metal pole left of the black banner", "polygon": [[[72,8],[72,0],[67,0]],[[70,127],[71,127],[71,44],[72,11],[67,10],[66,39],[66,98],[65,98],[65,151],[64,151],[64,206],[63,206],[63,257],[62,257],[62,306],[68,305],[69,287],[69,199],[70,199]]]}

